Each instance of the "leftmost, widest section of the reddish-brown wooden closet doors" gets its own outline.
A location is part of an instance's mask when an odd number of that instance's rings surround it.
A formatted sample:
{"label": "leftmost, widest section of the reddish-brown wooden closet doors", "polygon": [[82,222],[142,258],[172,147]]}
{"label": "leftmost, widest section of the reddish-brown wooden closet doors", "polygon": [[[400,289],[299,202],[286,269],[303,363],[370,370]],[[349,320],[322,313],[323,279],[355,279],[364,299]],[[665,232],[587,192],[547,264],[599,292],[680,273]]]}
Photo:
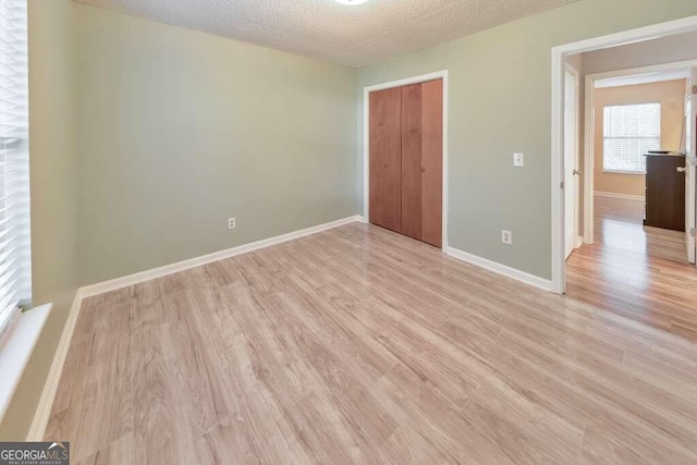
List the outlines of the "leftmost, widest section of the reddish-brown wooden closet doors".
{"label": "leftmost, widest section of the reddish-brown wooden closet doors", "polygon": [[402,232],[402,90],[369,96],[369,221]]}

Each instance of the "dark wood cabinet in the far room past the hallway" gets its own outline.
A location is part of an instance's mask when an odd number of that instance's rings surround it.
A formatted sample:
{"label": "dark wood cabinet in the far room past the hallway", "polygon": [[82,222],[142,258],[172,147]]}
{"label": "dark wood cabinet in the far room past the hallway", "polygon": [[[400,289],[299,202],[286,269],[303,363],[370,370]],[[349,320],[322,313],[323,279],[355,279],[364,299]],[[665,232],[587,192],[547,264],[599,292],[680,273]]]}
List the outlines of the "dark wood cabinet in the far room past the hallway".
{"label": "dark wood cabinet in the far room past the hallway", "polygon": [[646,156],[647,227],[685,231],[685,157]]}

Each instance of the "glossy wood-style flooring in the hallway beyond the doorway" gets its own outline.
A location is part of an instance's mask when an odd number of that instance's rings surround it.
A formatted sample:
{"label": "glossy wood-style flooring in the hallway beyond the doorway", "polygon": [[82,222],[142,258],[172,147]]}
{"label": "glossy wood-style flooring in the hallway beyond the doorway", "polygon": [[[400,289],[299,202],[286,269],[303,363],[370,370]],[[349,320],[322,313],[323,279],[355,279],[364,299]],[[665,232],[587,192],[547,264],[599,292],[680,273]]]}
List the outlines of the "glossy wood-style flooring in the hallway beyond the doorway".
{"label": "glossy wood-style flooring in the hallway beyond the doorway", "polygon": [[566,295],[697,341],[697,268],[685,234],[644,227],[640,200],[595,204],[595,244],[566,260]]}

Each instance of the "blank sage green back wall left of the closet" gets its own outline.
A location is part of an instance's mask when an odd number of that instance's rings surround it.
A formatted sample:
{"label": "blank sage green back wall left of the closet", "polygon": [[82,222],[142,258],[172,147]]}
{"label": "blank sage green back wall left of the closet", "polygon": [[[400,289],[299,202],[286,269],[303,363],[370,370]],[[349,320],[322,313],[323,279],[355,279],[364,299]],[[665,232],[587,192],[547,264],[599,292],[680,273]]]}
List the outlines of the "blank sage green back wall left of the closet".
{"label": "blank sage green back wall left of the closet", "polygon": [[358,213],[356,70],[75,11],[83,285]]}

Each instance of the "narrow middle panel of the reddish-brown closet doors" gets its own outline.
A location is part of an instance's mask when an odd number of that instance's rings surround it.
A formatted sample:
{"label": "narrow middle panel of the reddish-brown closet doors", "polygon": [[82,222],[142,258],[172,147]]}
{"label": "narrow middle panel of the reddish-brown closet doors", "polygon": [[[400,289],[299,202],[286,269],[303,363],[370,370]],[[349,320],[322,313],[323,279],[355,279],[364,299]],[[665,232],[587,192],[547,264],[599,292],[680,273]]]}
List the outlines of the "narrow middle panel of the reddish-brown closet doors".
{"label": "narrow middle panel of the reddish-brown closet doors", "polygon": [[402,87],[402,234],[421,238],[421,85]]}

